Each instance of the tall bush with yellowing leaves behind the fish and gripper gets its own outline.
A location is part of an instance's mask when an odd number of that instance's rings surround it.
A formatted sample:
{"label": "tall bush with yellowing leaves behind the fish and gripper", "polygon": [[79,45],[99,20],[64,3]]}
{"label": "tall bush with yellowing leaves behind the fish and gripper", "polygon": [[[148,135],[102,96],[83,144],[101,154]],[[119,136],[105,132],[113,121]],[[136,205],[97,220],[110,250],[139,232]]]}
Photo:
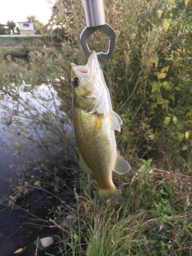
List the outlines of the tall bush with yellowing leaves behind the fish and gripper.
{"label": "tall bush with yellowing leaves behind the fish and gripper", "polygon": [[[185,3],[105,2],[106,23],[116,31],[116,44],[112,58],[100,59],[100,65],[114,110],[123,120],[118,147],[129,161],[153,157],[167,164],[191,164],[192,4]],[[70,77],[70,62],[87,62],[79,45],[86,27],[82,6],[58,0],[54,13],[55,24],[65,24],[69,34],[60,59],[65,62],[65,77]],[[95,32],[88,44],[106,52],[108,38]]]}

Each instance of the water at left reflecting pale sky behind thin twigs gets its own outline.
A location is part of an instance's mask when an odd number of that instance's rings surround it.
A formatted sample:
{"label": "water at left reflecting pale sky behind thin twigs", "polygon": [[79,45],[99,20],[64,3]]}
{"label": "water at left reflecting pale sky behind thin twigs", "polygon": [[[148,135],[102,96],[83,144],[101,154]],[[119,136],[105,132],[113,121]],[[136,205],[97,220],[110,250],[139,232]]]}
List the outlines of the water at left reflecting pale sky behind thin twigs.
{"label": "water at left reflecting pale sky behind thin twigs", "polygon": [[[51,84],[32,88],[24,83],[19,88],[12,88],[1,101],[1,141],[8,144],[8,147],[0,147],[1,200],[10,186],[6,179],[16,176],[17,166],[23,163],[21,158],[41,157],[53,161],[55,155],[71,150],[69,144],[74,140],[73,125],[61,110],[62,104]],[[33,172],[35,169],[31,170]],[[36,239],[37,232],[27,228],[25,234],[19,233],[20,216],[25,212],[0,206],[0,255],[10,256],[19,246],[28,247],[28,254],[22,255],[33,255],[32,240],[33,236]]]}

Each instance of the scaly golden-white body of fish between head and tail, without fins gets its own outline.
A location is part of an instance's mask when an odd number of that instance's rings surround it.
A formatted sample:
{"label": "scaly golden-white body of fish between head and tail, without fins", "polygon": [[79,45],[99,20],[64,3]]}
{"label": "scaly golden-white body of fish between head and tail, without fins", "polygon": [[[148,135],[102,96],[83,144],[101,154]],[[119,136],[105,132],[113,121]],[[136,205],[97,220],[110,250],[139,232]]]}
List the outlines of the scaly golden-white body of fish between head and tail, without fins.
{"label": "scaly golden-white body of fish between head and tail, without fins", "polygon": [[84,161],[92,170],[99,188],[113,187],[112,170],[116,161],[116,143],[108,116],[104,116],[101,131],[94,136],[95,115],[75,106],[73,111],[75,134]]}

